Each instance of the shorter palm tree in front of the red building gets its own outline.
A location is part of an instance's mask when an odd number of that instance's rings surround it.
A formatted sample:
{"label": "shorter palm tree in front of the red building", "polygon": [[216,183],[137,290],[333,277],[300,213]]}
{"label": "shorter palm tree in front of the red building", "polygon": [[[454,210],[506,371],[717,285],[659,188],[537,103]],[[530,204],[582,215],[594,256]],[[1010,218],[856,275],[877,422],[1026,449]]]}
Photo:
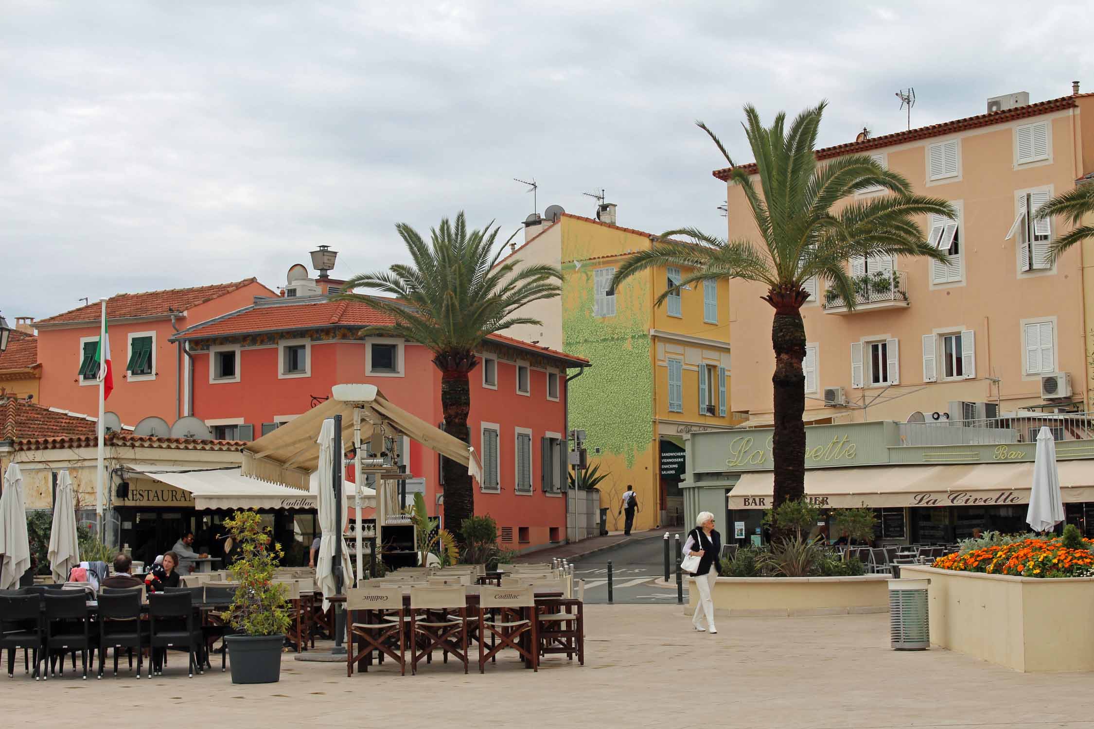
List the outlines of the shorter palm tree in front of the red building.
{"label": "shorter palm tree in front of the red building", "polygon": [[[467,231],[464,213],[455,223],[443,219],[431,228],[431,244],[406,223],[395,230],[410,251],[412,264],[396,263],[387,271],[359,273],[342,286],[340,301],[364,302],[389,315],[395,322],[368,327],[366,334],[400,337],[433,353],[441,371],[441,410],[444,430],[468,440],[467,413],[470,388],[467,374],[475,368],[475,350],[490,334],[514,325],[542,322],[513,313],[522,306],[561,292],[561,272],[551,266],[524,266],[517,259],[499,264],[505,251],[494,250],[498,228],[491,222],[481,231]],[[515,234],[514,234],[515,235]],[[507,240],[508,243],[508,240]],[[354,292],[371,289],[393,298]],[[444,525],[458,532],[475,514],[475,496],[467,469],[443,459]]]}

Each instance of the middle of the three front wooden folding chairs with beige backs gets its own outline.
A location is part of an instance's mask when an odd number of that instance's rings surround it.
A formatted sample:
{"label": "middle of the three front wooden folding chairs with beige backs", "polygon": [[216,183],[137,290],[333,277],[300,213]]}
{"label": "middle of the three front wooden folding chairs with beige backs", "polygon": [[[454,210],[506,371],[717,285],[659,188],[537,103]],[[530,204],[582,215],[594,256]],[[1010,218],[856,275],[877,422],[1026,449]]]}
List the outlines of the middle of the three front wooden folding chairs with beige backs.
{"label": "middle of the three front wooden folding chairs with beige backs", "polygon": [[[459,614],[452,614],[453,610]],[[410,588],[410,673],[417,673],[422,655],[429,660],[437,648],[444,651],[444,662],[452,654],[467,673],[467,588],[463,585]]]}

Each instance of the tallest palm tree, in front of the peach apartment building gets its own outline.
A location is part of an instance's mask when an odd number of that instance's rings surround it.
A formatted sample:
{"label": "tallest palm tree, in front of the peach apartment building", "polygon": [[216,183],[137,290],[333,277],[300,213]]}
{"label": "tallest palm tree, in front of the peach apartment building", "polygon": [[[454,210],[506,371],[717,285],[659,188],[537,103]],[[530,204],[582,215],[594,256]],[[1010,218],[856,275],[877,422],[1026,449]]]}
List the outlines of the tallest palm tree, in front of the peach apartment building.
{"label": "tallest palm tree, in front of the peach apartment building", "polygon": [[[821,103],[806,109],[784,129],[784,113],[765,128],[756,109],[745,106],[745,134],[756,160],[758,188],[749,173],[734,164],[718,137],[698,122],[732,167],[730,179],[744,190],[759,242],[728,240],[689,227],[668,231],[650,249],[627,259],[613,282],[618,285],[639,271],[659,266],[690,270],[659,296],[659,304],[670,293],[698,281],[741,279],[767,286],[764,299],[775,309],[771,345],[776,364],[771,381],[776,507],[804,494],[805,327],[800,308],[810,294],[803,284],[816,277],[853,306],[852,280],[843,268],[849,258],[900,255],[944,260],[945,251],[923,240],[916,217],[928,213],[955,215],[944,200],[912,195],[907,179],[868,155],[851,154],[818,164],[815,146],[824,108]],[[877,187],[892,195],[847,200],[856,192]],[[835,211],[845,200],[846,204]]]}

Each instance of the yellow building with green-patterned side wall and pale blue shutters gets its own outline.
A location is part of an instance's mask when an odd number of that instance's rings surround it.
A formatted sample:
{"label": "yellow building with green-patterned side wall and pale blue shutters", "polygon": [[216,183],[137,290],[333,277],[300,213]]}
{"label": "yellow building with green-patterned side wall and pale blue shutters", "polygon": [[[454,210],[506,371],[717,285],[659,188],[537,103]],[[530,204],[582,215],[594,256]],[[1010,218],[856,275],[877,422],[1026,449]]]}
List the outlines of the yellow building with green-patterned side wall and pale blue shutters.
{"label": "yellow building with green-patterned side wall and pale blue shutters", "polygon": [[654,306],[687,274],[656,268],[612,291],[619,264],[654,237],[616,225],[615,210],[602,204],[593,220],[552,205],[548,219],[529,216],[511,257],[560,267],[562,295],[520,313],[543,326],[507,333],[592,362],[571,375],[569,427],[585,431],[590,466],[608,474],[598,486],[608,528],[622,528],[621,496],[633,486],[635,529],[651,529],[682,518],[684,437],[741,420],[730,405],[729,286],[689,286]]}

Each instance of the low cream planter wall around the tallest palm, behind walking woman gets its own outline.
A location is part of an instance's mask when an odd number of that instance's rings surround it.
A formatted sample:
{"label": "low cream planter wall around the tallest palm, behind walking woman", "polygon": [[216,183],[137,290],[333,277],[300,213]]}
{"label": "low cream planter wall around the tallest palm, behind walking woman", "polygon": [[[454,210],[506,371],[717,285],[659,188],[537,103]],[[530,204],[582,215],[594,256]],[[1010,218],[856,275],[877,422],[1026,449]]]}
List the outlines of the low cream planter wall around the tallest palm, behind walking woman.
{"label": "low cream planter wall around the tallest palm, behind walking woman", "polygon": [[[887,575],[861,577],[719,577],[714,613],[730,618],[887,612]],[[699,591],[688,579],[688,614]]]}

